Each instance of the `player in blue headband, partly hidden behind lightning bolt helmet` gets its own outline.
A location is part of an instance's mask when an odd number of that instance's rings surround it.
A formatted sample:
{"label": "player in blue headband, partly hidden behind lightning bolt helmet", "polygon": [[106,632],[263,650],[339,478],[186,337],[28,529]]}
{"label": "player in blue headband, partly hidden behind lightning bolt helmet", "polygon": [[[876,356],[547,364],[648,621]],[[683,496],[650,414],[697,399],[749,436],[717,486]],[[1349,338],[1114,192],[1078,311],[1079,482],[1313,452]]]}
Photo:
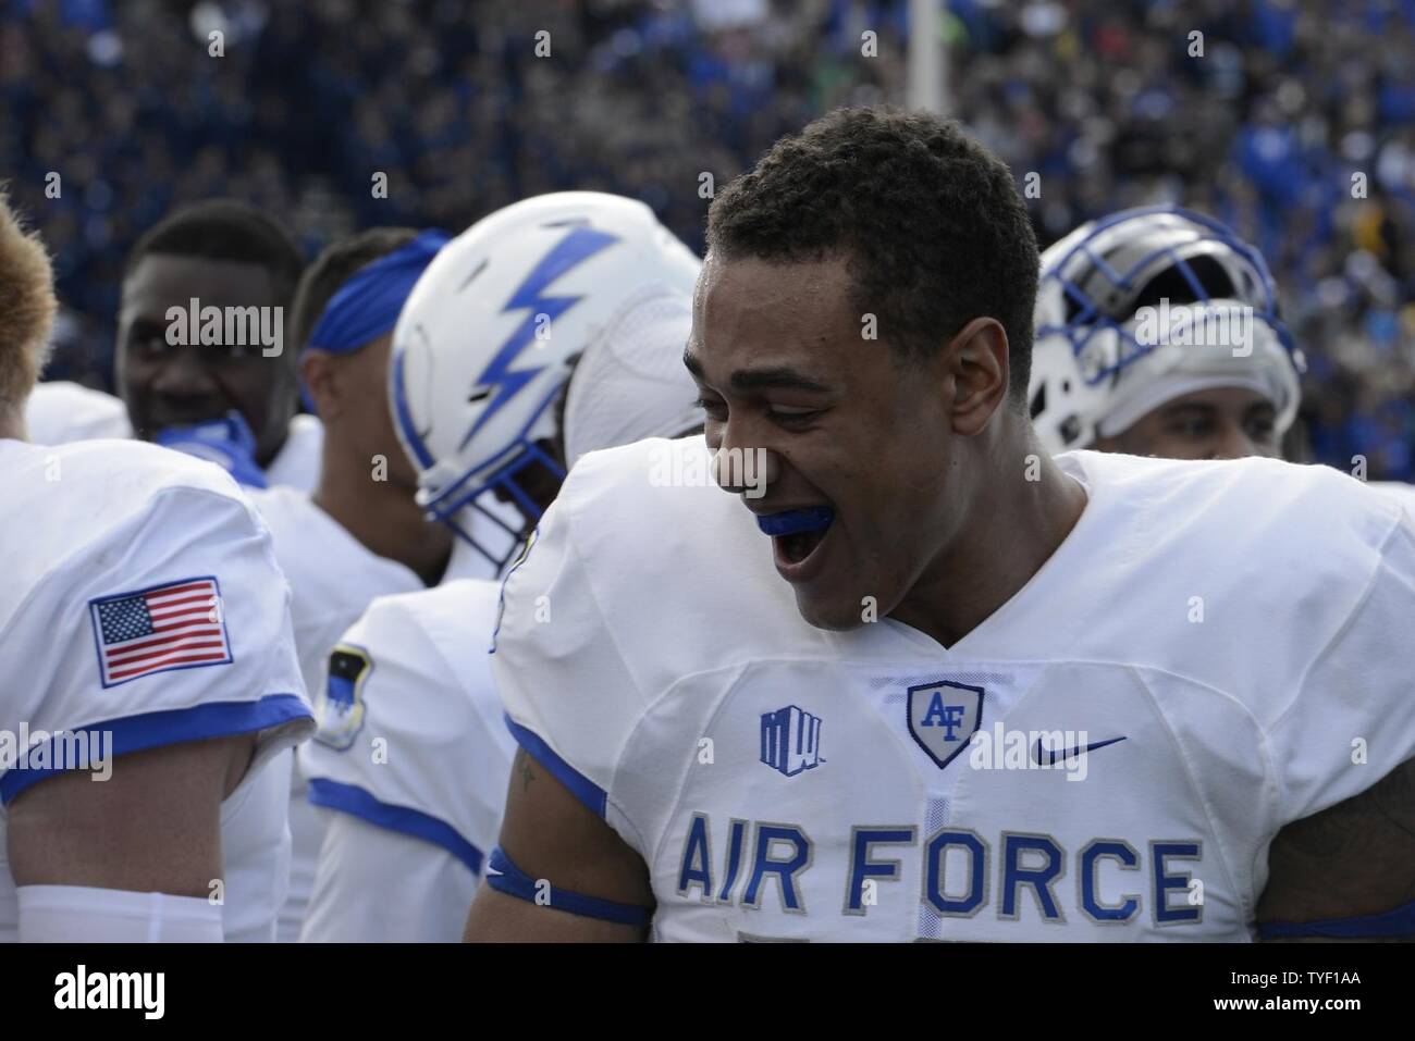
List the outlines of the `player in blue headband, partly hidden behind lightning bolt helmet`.
{"label": "player in blue headband, partly hidden behind lightning bolt helmet", "polygon": [[[447,242],[441,232],[374,228],[328,246],[306,270],[290,328],[301,388],[324,427],[313,492],[269,488],[250,501],[270,526],[290,583],[294,645],[307,689],[324,683],[330,648],[374,597],[436,584],[451,532],[423,518],[417,477],[388,407],[388,356],[398,313]],[[291,769],[294,762],[287,764]],[[294,851],[279,939],[296,941],[324,836],[296,771]]]}

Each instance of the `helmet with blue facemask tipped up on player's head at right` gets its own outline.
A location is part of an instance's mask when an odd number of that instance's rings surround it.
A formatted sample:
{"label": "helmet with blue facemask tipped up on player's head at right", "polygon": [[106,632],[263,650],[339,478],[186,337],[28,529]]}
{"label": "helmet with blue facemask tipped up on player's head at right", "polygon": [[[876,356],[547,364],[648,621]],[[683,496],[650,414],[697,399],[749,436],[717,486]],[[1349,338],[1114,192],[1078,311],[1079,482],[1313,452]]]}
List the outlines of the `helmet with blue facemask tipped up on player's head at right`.
{"label": "helmet with blue facemask tipped up on player's head at right", "polygon": [[1215,386],[1268,397],[1281,436],[1302,399],[1306,366],[1262,255],[1179,207],[1111,214],[1043,253],[1033,337],[1027,399],[1051,453]]}

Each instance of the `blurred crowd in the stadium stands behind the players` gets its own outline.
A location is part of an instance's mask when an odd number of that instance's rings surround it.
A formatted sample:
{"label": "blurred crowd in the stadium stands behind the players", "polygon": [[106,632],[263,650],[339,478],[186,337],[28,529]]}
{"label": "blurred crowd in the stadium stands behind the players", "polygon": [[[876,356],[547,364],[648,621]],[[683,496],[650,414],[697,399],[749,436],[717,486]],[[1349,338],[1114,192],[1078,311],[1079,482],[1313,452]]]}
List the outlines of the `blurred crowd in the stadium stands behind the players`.
{"label": "blurred crowd in the stadium stands behind the players", "polygon": [[[940,8],[947,110],[1040,174],[1043,245],[1163,199],[1231,223],[1307,355],[1312,457],[1415,479],[1415,0]],[[594,188],[700,249],[700,174],[724,184],[836,105],[903,102],[907,30],[907,0],[0,0],[0,178],[65,304],[47,375],[110,388],[123,256],[202,198],[255,202],[313,257]]]}

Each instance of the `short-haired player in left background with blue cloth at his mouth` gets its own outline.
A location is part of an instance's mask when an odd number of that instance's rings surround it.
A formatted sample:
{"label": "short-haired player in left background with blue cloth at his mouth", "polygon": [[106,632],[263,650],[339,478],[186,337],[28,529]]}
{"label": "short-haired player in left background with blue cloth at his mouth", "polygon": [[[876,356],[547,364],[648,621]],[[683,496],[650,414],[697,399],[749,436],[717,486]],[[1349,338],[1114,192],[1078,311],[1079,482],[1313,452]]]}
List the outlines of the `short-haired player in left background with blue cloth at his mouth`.
{"label": "short-haired player in left background with blue cloth at his mouth", "polygon": [[[304,262],[290,235],[242,202],[198,202],[166,216],[129,253],[115,382],[126,417],[96,392],[41,383],[31,403],[48,444],[136,436],[208,458],[245,485],[308,491],[320,423],[297,414],[286,318]],[[82,406],[45,421],[48,402]]]}

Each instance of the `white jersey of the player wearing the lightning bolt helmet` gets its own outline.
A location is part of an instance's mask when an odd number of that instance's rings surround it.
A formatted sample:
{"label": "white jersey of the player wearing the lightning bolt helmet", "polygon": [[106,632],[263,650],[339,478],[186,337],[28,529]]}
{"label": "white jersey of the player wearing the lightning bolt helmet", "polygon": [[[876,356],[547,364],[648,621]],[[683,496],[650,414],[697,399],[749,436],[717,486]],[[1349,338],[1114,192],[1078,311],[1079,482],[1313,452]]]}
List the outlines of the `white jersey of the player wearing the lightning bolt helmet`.
{"label": "white jersey of the player wearing the lightning bolt helmet", "polygon": [[461,938],[515,754],[487,653],[498,598],[474,578],[379,597],[335,648],[300,750],[330,819],[301,939]]}

